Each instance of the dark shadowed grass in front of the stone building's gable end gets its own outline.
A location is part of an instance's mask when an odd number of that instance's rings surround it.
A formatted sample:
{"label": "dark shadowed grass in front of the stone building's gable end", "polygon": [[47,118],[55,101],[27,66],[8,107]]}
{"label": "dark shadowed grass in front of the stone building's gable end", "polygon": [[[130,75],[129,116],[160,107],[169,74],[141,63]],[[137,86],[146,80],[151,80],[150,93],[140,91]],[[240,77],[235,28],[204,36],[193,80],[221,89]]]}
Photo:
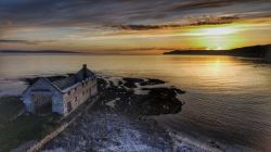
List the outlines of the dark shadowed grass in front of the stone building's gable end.
{"label": "dark shadowed grass in front of the stone building's gable end", "polygon": [[59,124],[53,114],[47,116],[17,116],[24,105],[17,97],[0,98],[0,152],[10,151],[20,144],[44,137]]}

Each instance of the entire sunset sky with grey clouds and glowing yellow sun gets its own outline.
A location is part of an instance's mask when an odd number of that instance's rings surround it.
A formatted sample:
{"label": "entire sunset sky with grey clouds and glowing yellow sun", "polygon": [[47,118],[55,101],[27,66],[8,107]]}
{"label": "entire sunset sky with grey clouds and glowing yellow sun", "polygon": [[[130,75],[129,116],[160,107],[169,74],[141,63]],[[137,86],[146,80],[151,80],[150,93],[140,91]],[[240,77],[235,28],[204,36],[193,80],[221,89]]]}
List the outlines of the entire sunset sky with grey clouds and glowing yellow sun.
{"label": "entire sunset sky with grey clouds and glowing yellow sun", "polygon": [[0,50],[156,54],[271,43],[271,0],[0,0]]}

